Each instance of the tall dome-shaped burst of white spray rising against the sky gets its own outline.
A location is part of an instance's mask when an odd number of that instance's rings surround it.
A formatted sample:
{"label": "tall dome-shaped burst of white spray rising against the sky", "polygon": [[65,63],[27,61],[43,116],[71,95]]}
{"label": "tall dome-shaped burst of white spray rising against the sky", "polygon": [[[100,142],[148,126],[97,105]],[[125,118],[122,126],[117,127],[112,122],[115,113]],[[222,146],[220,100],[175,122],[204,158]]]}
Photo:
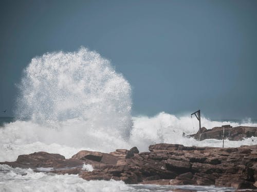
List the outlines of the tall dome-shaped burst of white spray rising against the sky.
{"label": "tall dome-shaped burst of white spray rising against the sky", "polygon": [[[70,119],[85,121],[84,131],[102,130],[128,136],[131,87],[98,53],[46,53],[35,57],[19,86],[16,116],[47,126]],[[72,128],[72,127],[71,127]]]}

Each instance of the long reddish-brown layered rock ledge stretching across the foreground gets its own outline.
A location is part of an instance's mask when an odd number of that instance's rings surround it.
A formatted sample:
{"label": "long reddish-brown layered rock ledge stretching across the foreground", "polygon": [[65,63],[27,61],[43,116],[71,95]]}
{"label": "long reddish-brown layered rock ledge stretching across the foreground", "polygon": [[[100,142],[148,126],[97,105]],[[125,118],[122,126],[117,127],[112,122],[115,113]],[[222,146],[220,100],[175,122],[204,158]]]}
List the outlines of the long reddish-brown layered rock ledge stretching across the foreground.
{"label": "long reddish-brown layered rock ledge stretching across the foreground", "polygon": [[[136,147],[110,154],[80,151],[70,159],[37,152],[0,164],[32,168],[36,172],[79,174],[85,180],[257,189],[257,145],[216,148],[160,143],[150,145],[149,151],[139,153]],[[92,165],[94,170],[86,170],[84,164]]]}

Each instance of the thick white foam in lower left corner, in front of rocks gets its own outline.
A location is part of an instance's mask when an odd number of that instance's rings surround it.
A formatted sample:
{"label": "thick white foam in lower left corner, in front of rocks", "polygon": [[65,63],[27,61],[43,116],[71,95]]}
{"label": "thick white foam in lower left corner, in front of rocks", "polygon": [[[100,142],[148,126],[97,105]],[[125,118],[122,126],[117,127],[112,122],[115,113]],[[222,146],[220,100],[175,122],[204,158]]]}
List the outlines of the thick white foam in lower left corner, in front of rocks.
{"label": "thick white foam in lower left corner, in front of rocks", "polygon": [[34,173],[31,169],[0,165],[0,191],[132,191],[122,181],[86,181],[78,175]]}

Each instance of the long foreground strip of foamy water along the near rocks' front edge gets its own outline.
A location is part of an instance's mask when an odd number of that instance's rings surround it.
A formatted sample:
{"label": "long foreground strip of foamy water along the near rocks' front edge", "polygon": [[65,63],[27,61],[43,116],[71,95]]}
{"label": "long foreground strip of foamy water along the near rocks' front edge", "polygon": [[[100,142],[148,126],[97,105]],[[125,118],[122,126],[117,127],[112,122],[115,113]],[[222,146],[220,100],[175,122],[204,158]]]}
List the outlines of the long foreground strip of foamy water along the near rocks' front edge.
{"label": "long foreground strip of foamy water along the near rocks' front edge", "polygon": [[[21,191],[78,191],[78,192],[149,192],[173,191],[172,189],[194,191],[234,191],[231,187],[214,186],[168,186],[168,185],[126,185],[123,181],[86,181],[78,175],[56,175],[34,173],[32,169],[12,168],[0,165],[0,192]],[[177,190],[174,190],[177,191]]]}

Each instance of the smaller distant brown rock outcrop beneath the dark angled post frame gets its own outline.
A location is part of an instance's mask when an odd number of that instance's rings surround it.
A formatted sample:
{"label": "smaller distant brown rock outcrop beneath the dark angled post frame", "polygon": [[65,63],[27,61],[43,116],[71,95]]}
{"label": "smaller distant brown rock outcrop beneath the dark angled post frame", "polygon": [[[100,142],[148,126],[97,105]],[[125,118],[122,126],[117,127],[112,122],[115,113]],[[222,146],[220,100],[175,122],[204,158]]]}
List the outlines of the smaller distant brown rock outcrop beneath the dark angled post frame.
{"label": "smaller distant brown rock outcrop beneath the dark angled post frame", "polygon": [[[252,126],[236,126],[224,125],[224,137],[231,141],[239,141],[244,138],[257,137],[257,127]],[[196,134],[189,135],[197,140],[205,139],[223,139],[223,126],[213,127],[211,130],[207,130],[205,127],[201,127]]]}

